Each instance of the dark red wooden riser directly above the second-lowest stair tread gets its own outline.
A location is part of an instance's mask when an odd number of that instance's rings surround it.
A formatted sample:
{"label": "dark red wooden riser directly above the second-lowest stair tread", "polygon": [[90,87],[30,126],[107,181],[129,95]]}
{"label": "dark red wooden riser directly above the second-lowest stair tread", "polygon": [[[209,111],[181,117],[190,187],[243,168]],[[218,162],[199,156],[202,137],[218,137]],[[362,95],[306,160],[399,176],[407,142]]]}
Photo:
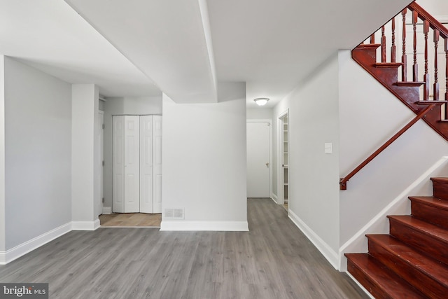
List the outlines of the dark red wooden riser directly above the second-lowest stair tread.
{"label": "dark red wooden riser directly above the second-lowest stair tread", "polygon": [[[393,218],[389,218],[390,235],[396,237],[401,242],[404,242],[408,246],[413,246],[422,253],[428,256],[432,256],[436,260],[440,260],[442,263],[448,264],[448,243],[441,239],[431,237],[425,232],[420,232],[407,225],[395,221]],[[430,244],[430,246],[428,246]]]}

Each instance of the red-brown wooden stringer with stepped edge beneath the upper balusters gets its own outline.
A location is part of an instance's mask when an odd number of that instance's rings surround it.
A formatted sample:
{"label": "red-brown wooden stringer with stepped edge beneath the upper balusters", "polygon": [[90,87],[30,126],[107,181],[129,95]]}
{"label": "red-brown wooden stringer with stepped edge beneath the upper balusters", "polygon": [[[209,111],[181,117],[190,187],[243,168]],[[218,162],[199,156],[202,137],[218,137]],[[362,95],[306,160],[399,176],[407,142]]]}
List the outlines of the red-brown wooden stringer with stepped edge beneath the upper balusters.
{"label": "red-brown wooden stringer with stepped edge beneath the upper balusters", "polygon": [[[398,68],[396,65],[391,67],[377,67],[377,48],[378,44],[369,44],[354,48],[351,51],[351,57],[356,61],[360,67],[371,74],[381,85],[392,92],[395,97],[405,104],[409,109],[418,114],[426,105],[419,105],[419,85],[414,86],[399,86],[398,83]],[[448,125],[440,122],[440,106],[435,107],[426,113],[422,118],[430,127],[435,130],[441,137],[448,141]]]}

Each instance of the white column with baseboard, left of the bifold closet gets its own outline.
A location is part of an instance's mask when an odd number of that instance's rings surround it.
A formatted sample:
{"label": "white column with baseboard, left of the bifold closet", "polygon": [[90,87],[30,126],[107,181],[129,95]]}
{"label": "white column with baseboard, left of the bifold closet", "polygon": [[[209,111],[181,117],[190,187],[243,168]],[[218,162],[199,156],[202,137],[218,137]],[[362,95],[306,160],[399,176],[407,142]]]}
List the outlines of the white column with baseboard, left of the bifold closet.
{"label": "white column with baseboard, left of the bifold closet", "polygon": [[98,88],[94,84],[71,87],[71,216],[73,230],[95,230],[99,227],[95,195],[99,176],[95,149],[99,146]]}

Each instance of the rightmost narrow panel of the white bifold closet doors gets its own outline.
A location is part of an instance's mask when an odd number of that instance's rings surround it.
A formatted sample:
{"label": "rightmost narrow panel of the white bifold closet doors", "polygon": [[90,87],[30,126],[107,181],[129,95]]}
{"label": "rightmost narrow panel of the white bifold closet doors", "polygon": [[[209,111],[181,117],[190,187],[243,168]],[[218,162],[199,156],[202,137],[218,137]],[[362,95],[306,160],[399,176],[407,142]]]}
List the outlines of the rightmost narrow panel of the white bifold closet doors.
{"label": "rightmost narrow panel of the white bifold closet doors", "polygon": [[162,116],[153,116],[153,213],[162,213]]}

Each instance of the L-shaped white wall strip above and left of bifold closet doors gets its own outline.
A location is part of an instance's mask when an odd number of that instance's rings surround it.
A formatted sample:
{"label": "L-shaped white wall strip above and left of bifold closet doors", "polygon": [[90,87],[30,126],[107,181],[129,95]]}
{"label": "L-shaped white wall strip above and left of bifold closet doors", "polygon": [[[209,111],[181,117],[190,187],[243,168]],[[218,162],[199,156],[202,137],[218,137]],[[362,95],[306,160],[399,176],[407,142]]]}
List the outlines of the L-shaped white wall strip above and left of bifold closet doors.
{"label": "L-shaped white wall strip above and left of bifold closet doors", "polygon": [[108,97],[104,104],[104,207],[112,207],[112,116],[162,114],[160,97]]}

